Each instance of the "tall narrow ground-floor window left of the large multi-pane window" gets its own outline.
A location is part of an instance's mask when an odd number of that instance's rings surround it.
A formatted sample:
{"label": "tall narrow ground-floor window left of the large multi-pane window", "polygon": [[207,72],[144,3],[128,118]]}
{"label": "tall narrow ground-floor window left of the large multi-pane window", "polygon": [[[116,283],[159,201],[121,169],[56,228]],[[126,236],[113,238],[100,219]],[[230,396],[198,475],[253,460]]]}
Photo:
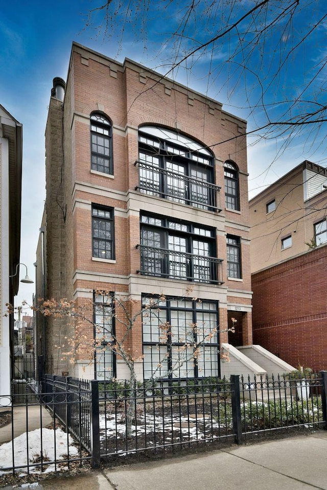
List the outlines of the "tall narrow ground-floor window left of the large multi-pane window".
{"label": "tall narrow ground-floor window left of the large multi-pane window", "polygon": [[115,376],[113,320],[112,296],[94,295],[95,377],[98,380],[108,380]]}

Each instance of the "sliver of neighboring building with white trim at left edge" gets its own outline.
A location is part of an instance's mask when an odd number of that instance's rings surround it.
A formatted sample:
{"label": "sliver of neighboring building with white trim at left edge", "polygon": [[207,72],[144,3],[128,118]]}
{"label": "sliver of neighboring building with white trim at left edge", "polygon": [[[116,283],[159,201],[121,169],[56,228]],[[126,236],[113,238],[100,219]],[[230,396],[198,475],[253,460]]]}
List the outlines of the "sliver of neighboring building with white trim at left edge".
{"label": "sliver of neighboring building with white trim at left edge", "polygon": [[19,284],[21,162],[22,126],[0,105],[0,396],[11,393],[13,315],[5,313]]}

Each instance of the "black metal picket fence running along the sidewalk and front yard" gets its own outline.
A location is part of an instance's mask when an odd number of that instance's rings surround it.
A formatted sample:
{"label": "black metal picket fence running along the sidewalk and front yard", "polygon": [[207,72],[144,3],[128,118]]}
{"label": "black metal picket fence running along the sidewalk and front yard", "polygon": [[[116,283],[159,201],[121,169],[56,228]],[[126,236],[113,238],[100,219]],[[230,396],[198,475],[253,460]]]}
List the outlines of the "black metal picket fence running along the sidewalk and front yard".
{"label": "black metal picket fence running along the sidewalk and front yard", "polygon": [[[4,465],[0,446],[0,477],[8,471],[69,469],[85,461],[97,468],[101,459],[140,451],[160,454],[216,443],[241,444],[259,433],[327,428],[327,371],[310,379],[231,376],[134,387],[129,382],[47,375],[41,390],[31,397],[26,393],[18,407],[11,403],[12,395],[7,397],[13,422],[12,461]],[[0,398],[0,406],[4,402]],[[17,409],[25,424],[25,462],[16,458]],[[44,416],[49,414],[47,428]],[[31,442],[35,421],[39,429],[36,442]]]}

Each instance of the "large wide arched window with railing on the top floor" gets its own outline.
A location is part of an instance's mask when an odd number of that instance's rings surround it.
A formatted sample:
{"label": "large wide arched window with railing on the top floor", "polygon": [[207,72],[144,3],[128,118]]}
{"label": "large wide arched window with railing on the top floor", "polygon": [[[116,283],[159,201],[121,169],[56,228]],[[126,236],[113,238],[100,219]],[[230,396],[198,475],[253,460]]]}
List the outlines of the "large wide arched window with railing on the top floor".
{"label": "large wide arched window with railing on the top floor", "polygon": [[143,126],[138,131],[138,189],[190,206],[217,207],[214,157],[205,145],[176,131]]}

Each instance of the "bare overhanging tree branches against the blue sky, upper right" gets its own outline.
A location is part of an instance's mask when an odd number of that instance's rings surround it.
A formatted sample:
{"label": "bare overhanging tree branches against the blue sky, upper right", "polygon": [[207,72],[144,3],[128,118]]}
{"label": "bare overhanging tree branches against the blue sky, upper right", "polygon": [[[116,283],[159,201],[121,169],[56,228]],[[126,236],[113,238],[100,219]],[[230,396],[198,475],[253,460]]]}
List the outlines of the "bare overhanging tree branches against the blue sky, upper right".
{"label": "bare overhanging tree branches against the blue sky, upper right", "polygon": [[198,78],[285,149],[294,137],[315,148],[325,140],[326,21],[322,0],[98,0],[85,28],[120,47],[132,32],[164,76]]}

